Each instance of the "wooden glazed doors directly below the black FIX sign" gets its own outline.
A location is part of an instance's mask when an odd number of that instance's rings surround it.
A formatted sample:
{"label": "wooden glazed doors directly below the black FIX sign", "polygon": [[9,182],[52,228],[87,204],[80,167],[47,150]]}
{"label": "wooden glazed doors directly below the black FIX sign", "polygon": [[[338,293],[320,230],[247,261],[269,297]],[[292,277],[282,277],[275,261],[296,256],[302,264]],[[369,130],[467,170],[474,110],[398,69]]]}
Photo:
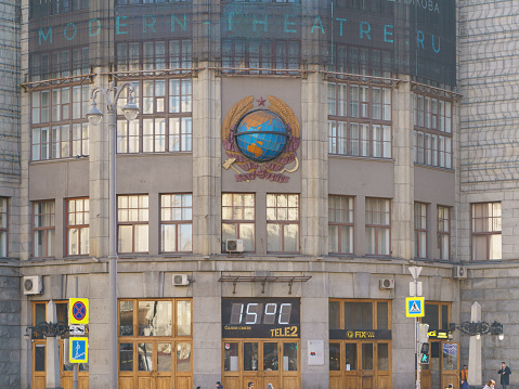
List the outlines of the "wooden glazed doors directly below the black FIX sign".
{"label": "wooden glazed doors directly below the black FIX sign", "polygon": [[329,343],[330,389],[390,389],[389,340],[338,340]]}

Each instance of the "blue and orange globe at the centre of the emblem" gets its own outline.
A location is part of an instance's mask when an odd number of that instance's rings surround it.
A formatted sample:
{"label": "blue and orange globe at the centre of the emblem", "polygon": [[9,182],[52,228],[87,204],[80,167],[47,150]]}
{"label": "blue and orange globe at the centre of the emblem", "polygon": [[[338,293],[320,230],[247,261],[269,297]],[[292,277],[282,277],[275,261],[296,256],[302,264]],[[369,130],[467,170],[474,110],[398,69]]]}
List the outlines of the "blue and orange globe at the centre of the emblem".
{"label": "blue and orange globe at the centre of the emblem", "polygon": [[283,153],[288,131],[273,112],[252,111],[238,122],[234,137],[245,156],[257,163],[267,163]]}

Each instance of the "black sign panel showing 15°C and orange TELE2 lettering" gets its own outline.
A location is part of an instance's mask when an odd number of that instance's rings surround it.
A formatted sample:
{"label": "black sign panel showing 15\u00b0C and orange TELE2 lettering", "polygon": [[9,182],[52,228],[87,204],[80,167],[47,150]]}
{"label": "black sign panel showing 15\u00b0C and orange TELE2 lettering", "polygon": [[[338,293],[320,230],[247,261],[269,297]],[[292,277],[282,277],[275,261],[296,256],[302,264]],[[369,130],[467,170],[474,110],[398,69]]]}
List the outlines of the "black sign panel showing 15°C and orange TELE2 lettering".
{"label": "black sign panel showing 15\u00b0C and orange TELE2 lettering", "polygon": [[299,299],[222,299],[224,338],[299,337]]}

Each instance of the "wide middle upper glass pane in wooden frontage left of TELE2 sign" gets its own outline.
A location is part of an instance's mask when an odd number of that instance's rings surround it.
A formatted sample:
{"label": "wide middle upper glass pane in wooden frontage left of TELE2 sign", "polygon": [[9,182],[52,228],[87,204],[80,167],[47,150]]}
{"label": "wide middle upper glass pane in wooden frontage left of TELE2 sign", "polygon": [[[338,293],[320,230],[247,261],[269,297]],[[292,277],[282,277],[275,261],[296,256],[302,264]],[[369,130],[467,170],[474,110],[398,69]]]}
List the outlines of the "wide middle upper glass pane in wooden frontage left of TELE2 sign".
{"label": "wide middle upper glass pane in wooden frontage left of TELE2 sign", "polygon": [[171,301],[139,301],[139,335],[171,336]]}

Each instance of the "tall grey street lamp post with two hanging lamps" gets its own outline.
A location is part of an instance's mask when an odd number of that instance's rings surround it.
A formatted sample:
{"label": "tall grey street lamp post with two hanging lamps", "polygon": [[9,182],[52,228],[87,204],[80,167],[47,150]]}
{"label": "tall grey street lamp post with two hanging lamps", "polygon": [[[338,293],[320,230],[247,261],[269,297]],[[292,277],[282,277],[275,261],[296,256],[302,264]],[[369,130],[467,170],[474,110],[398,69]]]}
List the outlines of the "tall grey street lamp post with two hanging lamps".
{"label": "tall grey street lamp post with two hanging lamps", "polygon": [[[98,108],[95,99],[98,94],[104,95],[106,103],[106,113],[108,114],[109,131],[109,153],[108,153],[108,261],[109,261],[109,349],[111,349],[111,368],[109,368],[109,388],[117,389],[118,378],[118,358],[117,358],[117,195],[116,195],[116,154],[117,154],[117,102],[121,91],[128,88],[128,101],[122,107],[122,112],[128,120],[133,120],[139,115],[139,107],[133,103],[133,85],[125,82],[116,87],[111,82],[109,88],[103,89],[96,87],[92,90],[90,100],[92,105],[87,114],[87,118],[92,126],[99,126],[103,119],[103,113]],[[112,98],[111,98],[112,96]]]}

